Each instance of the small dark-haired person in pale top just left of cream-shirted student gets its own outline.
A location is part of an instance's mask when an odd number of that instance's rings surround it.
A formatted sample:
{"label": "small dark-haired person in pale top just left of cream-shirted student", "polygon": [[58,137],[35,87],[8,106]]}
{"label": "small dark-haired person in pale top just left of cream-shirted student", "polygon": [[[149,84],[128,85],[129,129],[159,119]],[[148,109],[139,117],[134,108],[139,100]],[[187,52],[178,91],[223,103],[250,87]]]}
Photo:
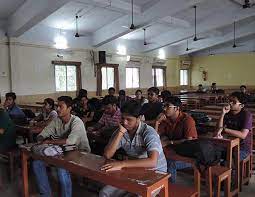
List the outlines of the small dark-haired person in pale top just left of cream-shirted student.
{"label": "small dark-haired person in pale top just left of cream-shirted student", "polygon": [[56,117],[58,117],[58,113],[55,110],[54,100],[46,98],[43,101],[43,112],[35,117],[34,120],[43,121],[48,124]]}

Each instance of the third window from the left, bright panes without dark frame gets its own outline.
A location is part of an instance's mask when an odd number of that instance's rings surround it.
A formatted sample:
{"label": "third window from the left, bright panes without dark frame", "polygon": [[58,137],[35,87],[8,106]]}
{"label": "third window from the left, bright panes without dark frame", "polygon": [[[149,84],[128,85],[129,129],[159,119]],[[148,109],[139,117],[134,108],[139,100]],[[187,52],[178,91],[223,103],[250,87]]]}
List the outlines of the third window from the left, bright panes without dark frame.
{"label": "third window from the left, bright panes without dark frame", "polygon": [[126,68],[126,88],[139,88],[139,68]]}

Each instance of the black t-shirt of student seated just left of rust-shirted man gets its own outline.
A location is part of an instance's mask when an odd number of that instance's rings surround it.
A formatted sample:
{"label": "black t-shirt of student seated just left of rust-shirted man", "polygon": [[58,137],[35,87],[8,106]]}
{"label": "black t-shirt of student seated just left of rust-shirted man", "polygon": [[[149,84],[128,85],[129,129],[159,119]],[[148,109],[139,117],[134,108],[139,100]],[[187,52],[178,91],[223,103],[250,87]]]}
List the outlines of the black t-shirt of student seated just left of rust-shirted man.
{"label": "black t-shirt of student seated just left of rust-shirted man", "polygon": [[145,103],[140,111],[144,115],[145,120],[155,120],[157,116],[163,111],[163,104],[160,102]]}

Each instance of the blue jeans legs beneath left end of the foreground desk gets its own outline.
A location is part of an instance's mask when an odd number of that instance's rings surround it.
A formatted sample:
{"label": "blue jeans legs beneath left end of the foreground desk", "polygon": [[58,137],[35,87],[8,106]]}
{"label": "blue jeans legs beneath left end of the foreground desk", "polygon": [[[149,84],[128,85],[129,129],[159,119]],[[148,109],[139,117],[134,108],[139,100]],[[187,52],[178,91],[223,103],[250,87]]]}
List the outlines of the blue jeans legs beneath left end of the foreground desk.
{"label": "blue jeans legs beneath left end of the foreground desk", "polygon": [[[36,182],[41,197],[52,196],[46,166],[43,161],[36,160],[32,163]],[[62,168],[57,168],[58,180],[61,187],[61,197],[72,197],[72,181],[68,171]]]}

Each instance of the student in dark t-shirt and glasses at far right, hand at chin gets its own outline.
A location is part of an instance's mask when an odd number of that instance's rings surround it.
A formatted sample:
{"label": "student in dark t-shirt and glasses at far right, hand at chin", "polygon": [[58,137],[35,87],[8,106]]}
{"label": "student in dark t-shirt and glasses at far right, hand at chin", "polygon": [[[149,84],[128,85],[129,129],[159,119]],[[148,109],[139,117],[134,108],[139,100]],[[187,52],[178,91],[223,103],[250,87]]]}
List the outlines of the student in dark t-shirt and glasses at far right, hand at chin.
{"label": "student in dark t-shirt and glasses at far right, hand at chin", "polygon": [[252,147],[252,114],[244,109],[245,98],[240,92],[233,92],[229,97],[229,105],[223,107],[218,122],[216,137],[222,133],[240,138],[240,160],[244,160]]}

